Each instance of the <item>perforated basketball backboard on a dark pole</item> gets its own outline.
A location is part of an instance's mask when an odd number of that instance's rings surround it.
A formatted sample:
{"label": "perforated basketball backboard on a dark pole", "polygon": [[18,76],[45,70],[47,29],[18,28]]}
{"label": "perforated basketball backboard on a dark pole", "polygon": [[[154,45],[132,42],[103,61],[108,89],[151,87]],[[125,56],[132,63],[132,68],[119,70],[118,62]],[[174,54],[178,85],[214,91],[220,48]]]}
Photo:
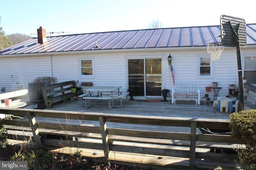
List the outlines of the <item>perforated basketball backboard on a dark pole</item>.
{"label": "perforated basketball backboard on a dark pole", "polygon": [[[222,14],[220,16],[221,40],[225,47],[246,47],[246,22],[242,18]],[[234,33],[235,31],[235,33]]]}

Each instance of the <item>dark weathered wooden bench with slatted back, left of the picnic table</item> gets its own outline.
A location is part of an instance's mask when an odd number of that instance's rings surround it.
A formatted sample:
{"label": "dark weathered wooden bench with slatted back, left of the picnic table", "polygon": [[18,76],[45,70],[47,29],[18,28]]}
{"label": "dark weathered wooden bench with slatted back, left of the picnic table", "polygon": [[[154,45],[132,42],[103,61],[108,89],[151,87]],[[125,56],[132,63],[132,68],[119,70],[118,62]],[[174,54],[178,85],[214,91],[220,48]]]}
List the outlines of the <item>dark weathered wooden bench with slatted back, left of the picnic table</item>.
{"label": "dark weathered wooden bench with slatted back, left of the picnic table", "polygon": [[61,101],[66,102],[70,100],[70,98],[82,94],[82,91],[76,91],[75,93],[71,92],[71,86],[74,85],[76,85],[76,81],[72,80],[42,87],[46,107],[50,108],[52,104]]}

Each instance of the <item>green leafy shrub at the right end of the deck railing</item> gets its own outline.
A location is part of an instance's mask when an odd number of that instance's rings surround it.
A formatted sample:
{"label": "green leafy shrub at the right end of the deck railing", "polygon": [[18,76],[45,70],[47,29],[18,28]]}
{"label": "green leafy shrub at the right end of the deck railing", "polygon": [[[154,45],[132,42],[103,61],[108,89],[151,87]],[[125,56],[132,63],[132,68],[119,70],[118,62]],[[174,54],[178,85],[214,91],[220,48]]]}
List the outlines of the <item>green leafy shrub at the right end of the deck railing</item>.
{"label": "green leafy shrub at the right end of the deck railing", "polygon": [[238,150],[242,166],[256,169],[256,109],[230,114],[230,129],[238,143],[246,146]]}

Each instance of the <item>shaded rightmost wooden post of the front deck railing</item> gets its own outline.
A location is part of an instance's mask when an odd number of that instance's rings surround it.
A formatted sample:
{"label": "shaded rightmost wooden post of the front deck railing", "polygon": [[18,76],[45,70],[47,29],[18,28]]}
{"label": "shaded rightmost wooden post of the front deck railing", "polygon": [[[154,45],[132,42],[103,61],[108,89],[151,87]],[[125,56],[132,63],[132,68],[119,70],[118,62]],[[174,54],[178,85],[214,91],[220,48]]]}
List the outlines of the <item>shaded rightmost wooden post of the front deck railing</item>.
{"label": "shaded rightmost wooden post of the front deck railing", "polygon": [[189,166],[194,168],[196,160],[196,122],[191,122]]}

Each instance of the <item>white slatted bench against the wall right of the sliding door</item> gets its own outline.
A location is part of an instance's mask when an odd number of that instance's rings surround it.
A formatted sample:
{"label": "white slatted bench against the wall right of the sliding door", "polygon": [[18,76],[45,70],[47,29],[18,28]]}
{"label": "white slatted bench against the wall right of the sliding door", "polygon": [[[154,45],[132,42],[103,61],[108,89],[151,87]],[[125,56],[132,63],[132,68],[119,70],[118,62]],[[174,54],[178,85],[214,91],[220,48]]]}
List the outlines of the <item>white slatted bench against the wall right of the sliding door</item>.
{"label": "white slatted bench against the wall right of the sliding door", "polygon": [[176,100],[195,100],[196,105],[200,105],[200,89],[196,82],[175,82],[172,89],[172,104]]}

